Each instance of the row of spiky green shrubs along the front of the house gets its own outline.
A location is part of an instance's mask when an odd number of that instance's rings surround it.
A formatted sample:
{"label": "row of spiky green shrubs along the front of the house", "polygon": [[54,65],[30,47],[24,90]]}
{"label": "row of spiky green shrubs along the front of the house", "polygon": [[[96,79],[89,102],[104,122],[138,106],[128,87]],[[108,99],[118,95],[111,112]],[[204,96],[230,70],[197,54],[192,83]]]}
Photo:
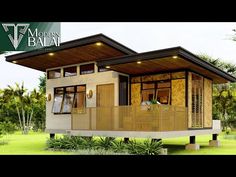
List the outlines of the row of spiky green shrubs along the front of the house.
{"label": "row of spiky green shrubs along the front of the house", "polygon": [[109,151],[114,153],[128,152],[136,155],[158,155],[160,154],[162,143],[161,141],[147,139],[143,142],[131,140],[128,144],[125,144],[122,140],[118,141],[111,137],[100,137],[99,140],[95,140],[92,137],[64,136],[62,138],[49,139],[47,147],[64,150],[84,149],[89,151],[96,150],[97,152]]}

